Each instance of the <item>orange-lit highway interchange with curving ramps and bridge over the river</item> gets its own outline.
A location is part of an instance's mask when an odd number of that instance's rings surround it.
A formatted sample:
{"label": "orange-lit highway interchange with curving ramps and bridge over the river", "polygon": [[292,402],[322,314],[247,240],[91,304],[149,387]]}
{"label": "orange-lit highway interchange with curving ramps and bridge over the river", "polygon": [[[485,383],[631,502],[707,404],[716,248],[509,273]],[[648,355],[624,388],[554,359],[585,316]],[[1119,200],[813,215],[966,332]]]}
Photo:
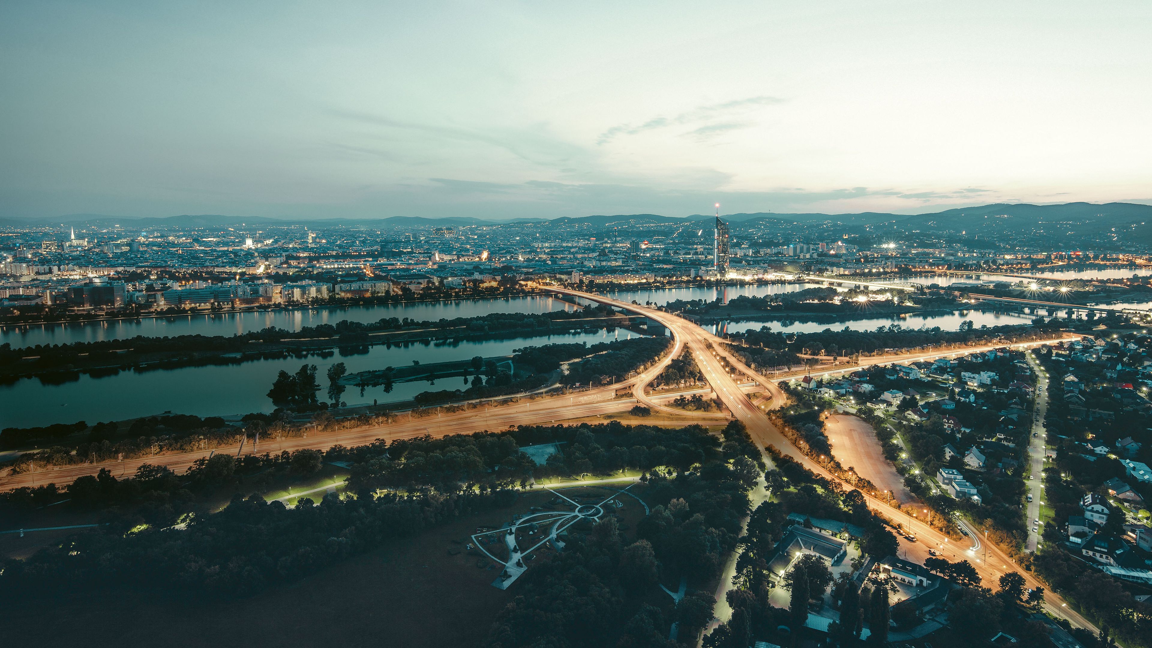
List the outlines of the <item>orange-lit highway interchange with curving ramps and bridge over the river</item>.
{"label": "orange-lit highway interchange with curving ramps and bridge over the river", "polygon": [[[605,414],[614,414],[623,410],[630,409],[637,402],[652,407],[653,410],[675,413],[679,416],[689,415],[688,413],[680,409],[670,409],[666,406],[659,404],[653,399],[653,397],[646,393],[647,385],[659,376],[673,357],[676,357],[679,353],[687,349],[696,359],[696,362],[704,375],[704,378],[711,385],[712,391],[719,400],[728,408],[732,415],[744,422],[748,427],[750,435],[760,449],[768,445],[774,446],[776,450],[787,454],[801,462],[805,468],[823,475],[831,480],[836,480],[831,473],[825,470],[819,464],[810,460],[808,457],[803,455],[795,446],[793,446],[785,436],[772,424],[771,420],[766,414],[767,408],[779,407],[785,402],[786,397],[780,390],[779,385],[767,377],[764,377],[749,367],[746,367],[738,357],[728,353],[725,349],[723,340],[717,336],[706,332],[704,329],[697,324],[665,312],[655,308],[649,308],[644,306],[626,303],[622,301],[605,297],[599,294],[590,294],[579,291],[554,288],[555,292],[568,294],[571,296],[583,297],[590,301],[606,303],[615,308],[620,308],[626,311],[630,311],[637,315],[649,317],[652,321],[659,322],[666,326],[674,339],[674,347],[672,353],[667,354],[662,360],[649,367],[641,374],[617,383],[615,385],[601,386],[591,389],[576,394],[566,394],[558,397],[541,398],[537,400],[523,401],[515,405],[502,406],[502,407],[484,407],[483,410],[479,409],[465,409],[457,413],[440,413],[427,417],[416,417],[412,419],[411,415],[400,415],[400,417],[391,423],[384,425],[367,425],[361,428],[351,428],[346,430],[338,430],[334,432],[325,432],[319,435],[313,435],[312,438],[308,437],[296,437],[286,438],[278,440],[262,440],[256,449],[249,449],[249,452],[280,452],[283,450],[293,451],[301,449],[327,449],[335,444],[343,445],[358,445],[371,443],[376,439],[397,439],[397,438],[410,438],[423,435],[431,435],[434,437],[454,435],[454,434],[470,434],[483,430],[501,430],[515,425],[524,424],[551,424],[559,423],[563,421],[569,421],[573,419],[582,419],[590,416],[600,416]],[[1029,342],[1026,345],[1014,345],[1017,348],[1023,347],[1034,347],[1039,344],[1045,344],[1051,340],[1043,340],[1036,342]],[[998,345],[1003,346],[1003,345]],[[994,346],[982,347],[982,348],[994,348]],[[915,362],[918,360],[931,360],[941,356],[957,356],[968,353],[973,353],[982,351],[982,348],[963,348],[963,349],[935,349],[931,352],[919,353],[919,354],[905,354],[900,356],[889,357],[871,357],[862,359],[863,362],[854,366],[844,366],[840,368],[833,368],[823,371],[812,372],[816,377],[833,376],[843,372],[850,372],[859,369],[861,367],[867,367],[872,364],[882,364],[890,362]],[[763,390],[766,390],[771,395],[771,400],[764,401],[763,405],[753,405],[752,400],[746,393],[748,386],[741,386],[737,384],[737,378],[729,374],[725,363],[721,361],[723,359],[730,367],[734,368],[734,374],[743,375],[745,378],[751,378],[755,383]],[[617,390],[629,389],[631,391],[631,398],[617,398]],[[722,419],[715,416],[700,417],[700,422],[722,422]],[[240,447],[235,449],[236,452]],[[232,452],[229,449],[219,449],[215,452]],[[28,473],[22,475],[7,476],[0,480],[0,488],[9,489],[21,485],[35,485],[38,483],[56,482],[56,483],[68,483],[78,476],[94,474],[100,468],[111,468],[113,474],[130,475],[135,473],[136,468],[143,464],[153,465],[165,465],[172,468],[176,473],[182,473],[187,470],[195,461],[203,457],[207,457],[210,452],[188,452],[179,454],[165,454],[153,458],[141,458],[127,461],[109,462],[109,464],[81,464],[75,466],[60,467],[51,470],[41,470],[38,473]],[[1041,453],[1043,458],[1043,453]],[[765,457],[765,459],[768,459]],[[838,480],[839,481],[839,480]],[[979,535],[977,529],[968,528],[969,538],[971,540],[971,547],[964,549],[955,549],[956,542],[949,540],[945,534],[929,527],[927,525],[908,517],[900,511],[893,508],[892,506],[885,504],[884,502],[865,493],[865,499],[869,506],[874,511],[879,512],[886,518],[889,518],[894,523],[899,522],[904,528],[909,529],[912,534],[918,537],[918,542],[924,547],[939,547],[945,548],[949,545],[953,551],[957,551],[958,557],[964,557],[973,564],[977,572],[984,579],[987,585],[994,585],[1000,575],[1008,571],[1017,571],[1024,575],[1026,585],[1029,588],[1038,587],[1040,583],[1026,571],[1018,568],[1002,551],[996,547],[988,545],[982,547],[980,540],[977,537]],[[1034,499],[1039,499],[1036,497]],[[1032,515],[1031,510],[1029,514]],[[984,559],[984,551],[987,551],[987,559]],[[1053,593],[1046,594],[1045,608],[1059,616],[1067,618],[1074,626],[1086,627],[1094,630],[1094,627],[1076,613],[1074,610],[1069,609],[1064,602]]]}

